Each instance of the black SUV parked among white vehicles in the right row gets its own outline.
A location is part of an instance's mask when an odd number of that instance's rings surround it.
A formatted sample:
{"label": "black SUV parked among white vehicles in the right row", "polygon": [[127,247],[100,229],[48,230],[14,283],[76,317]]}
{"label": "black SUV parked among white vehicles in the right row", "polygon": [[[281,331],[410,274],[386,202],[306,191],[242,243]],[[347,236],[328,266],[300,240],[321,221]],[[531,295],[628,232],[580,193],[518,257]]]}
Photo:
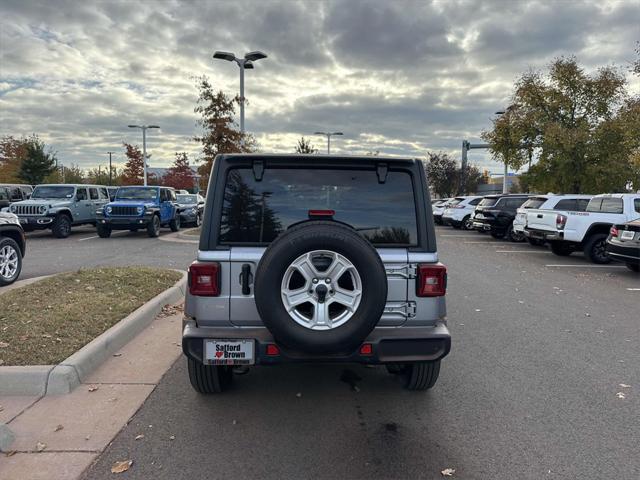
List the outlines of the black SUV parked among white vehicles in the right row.
{"label": "black SUV parked among white vehicles in the right row", "polygon": [[475,209],[473,228],[486,231],[493,238],[524,241],[524,235],[514,232],[516,211],[529,199],[527,194],[487,195]]}

